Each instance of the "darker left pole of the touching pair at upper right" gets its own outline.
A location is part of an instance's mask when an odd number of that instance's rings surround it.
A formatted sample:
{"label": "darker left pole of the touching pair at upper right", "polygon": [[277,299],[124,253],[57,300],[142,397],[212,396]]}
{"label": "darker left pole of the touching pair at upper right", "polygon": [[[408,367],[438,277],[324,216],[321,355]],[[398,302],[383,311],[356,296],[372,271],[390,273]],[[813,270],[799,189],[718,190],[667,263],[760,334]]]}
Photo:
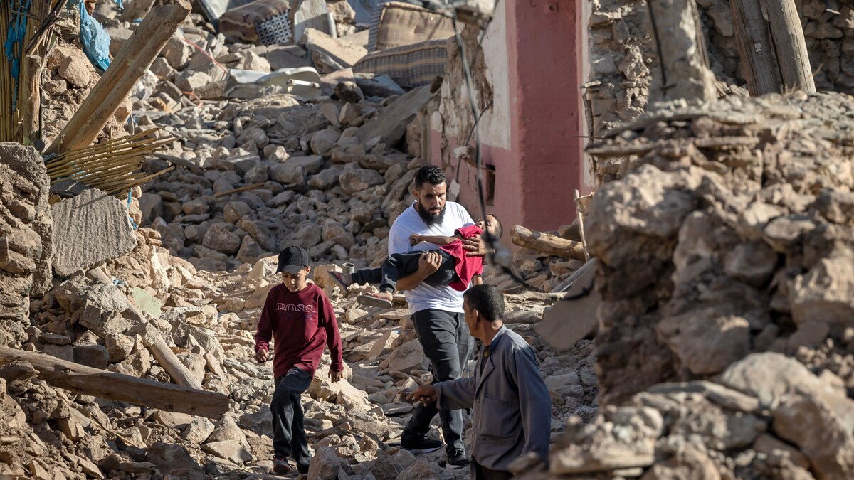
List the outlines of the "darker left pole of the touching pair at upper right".
{"label": "darker left pole of the touching pair at upper right", "polygon": [[729,6],[733,11],[735,39],[746,70],[747,90],[754,97],[780,93],[780,70],[761,6],[755,0],[729,0]]}

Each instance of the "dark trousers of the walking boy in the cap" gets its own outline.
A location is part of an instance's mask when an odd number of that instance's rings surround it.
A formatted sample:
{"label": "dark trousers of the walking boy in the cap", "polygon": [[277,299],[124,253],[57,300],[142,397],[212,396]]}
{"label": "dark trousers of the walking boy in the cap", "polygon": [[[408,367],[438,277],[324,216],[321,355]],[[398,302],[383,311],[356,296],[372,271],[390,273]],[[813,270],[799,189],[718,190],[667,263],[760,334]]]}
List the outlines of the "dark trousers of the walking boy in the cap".
{"label": "dark trousers of the walking boy in the cap", "polygon": [[272,448],[275,454],[293,456],[296,465],[308,466],[308,439],[303,426],[300,395],[312,383],[312,376],[297,367],[275,379],[272,394]]}

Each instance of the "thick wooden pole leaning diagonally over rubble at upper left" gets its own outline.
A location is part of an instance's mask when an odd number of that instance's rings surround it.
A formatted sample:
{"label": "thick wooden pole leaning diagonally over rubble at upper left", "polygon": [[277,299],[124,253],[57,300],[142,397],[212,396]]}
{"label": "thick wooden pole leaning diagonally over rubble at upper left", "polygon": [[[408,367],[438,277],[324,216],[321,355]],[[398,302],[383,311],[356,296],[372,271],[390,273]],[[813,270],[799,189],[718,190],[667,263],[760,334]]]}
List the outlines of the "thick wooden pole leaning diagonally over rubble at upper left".
{"label": "thick wooden pole leaning diagonally over rubble at upper left", "polygon": [[190,9],[186,0],[175,0],[173,5],[155,7],[145,15],[47,153],[82,149],[95,141],[133,85],[190,14]]}

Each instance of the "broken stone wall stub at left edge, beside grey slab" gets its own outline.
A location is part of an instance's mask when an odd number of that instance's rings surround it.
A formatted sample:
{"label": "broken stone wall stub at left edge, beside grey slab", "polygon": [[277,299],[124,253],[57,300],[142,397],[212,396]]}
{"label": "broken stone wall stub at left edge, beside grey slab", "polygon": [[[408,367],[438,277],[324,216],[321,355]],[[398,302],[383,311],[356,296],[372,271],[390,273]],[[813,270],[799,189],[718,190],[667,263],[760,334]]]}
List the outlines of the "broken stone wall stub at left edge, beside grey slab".
{"label": "broken stone wall stub at left edge, beside grey slab", "polygon": [[[20,344],[29,325],[30,296],[51,287],[50,180],[35,149],[0,143],[0,321]],[[0,331],[2,334],[3,331]]]}

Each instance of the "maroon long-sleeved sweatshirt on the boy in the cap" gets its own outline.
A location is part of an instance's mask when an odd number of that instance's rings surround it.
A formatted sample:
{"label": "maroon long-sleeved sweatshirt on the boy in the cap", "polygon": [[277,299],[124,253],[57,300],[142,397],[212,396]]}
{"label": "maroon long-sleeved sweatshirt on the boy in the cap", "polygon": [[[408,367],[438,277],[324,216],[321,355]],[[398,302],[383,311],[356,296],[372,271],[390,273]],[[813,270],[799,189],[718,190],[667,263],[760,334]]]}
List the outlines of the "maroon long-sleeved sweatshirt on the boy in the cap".
{"label": "maroon long-sleeved sweatshirt on the boy in the cap", "polygon": [[323,290],[315,284],[292,292],[278,284],[267,294],[258,332],[255,333],[255,351],[269,349],[273,338],[272,372],[281,377],[296,366],[314,376],[320,364],[324,344],[332,355],[332,371],[344,369],[341,333],[332,303]]}

